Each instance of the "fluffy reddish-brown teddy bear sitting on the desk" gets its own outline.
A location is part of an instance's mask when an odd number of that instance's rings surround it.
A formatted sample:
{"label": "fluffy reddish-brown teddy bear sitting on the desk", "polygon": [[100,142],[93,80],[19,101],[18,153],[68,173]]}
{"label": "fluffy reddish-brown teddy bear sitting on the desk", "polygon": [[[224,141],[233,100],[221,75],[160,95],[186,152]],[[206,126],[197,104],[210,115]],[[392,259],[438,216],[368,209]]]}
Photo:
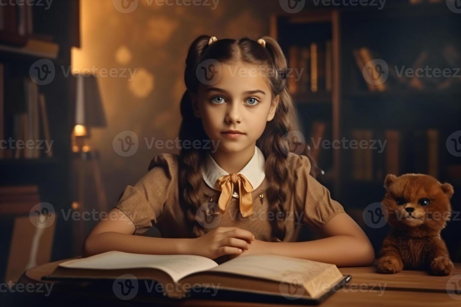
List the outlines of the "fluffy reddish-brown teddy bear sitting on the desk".
{"label": "fluffy reddish-brown teddy bear sitting on the desk", "polygon": [[389,174],[382,203],[392,227],[378,255],[378,272],[427,270],[449,275],[453,270],[440,232],[451,216],[453,186],[424,174]]}

